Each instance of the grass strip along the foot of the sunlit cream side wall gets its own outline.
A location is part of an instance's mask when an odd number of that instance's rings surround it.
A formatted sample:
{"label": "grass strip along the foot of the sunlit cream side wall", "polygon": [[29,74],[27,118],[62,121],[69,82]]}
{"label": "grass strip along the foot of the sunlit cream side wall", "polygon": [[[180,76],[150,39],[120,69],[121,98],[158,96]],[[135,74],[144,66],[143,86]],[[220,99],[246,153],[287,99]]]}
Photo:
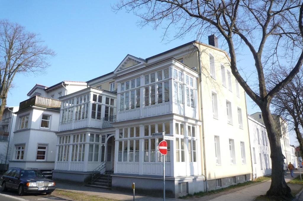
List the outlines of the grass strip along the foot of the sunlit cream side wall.
{"label": "grass strip along the foot of the sunlit cream side wall", "polygon": [[253,181],[247,181],[247,182],[244,182],[244,183],[238,183],[238,184],[235,184],[235,185],[228,186],[226,188],[221,188],[221,189],[216,189],[216,190],[209,190],[208,192],[201,191],[201,192],[194,193],[194,194],[188,194],[186,196],[182,196],[182,197],[179,197],[179,198],[181,198],[181,199],[187,199],[187,198],[191,198],[191,197],[208,196],[208,195],[212,195],[212,194],[216,194],[216,193],[221,193],[223,191],[227,191],[227,190],[230,190],[230,189],[235,189],[235,188],[238,188],[238,187],[241,187],[241,186],[247,186],[249,184],[253,184],[253,183],[258,183],[258,182],[270,180],[270,179],[271,179],[271,176],[260,176],[260,177],[258,177],[257,179],[255,179]]}

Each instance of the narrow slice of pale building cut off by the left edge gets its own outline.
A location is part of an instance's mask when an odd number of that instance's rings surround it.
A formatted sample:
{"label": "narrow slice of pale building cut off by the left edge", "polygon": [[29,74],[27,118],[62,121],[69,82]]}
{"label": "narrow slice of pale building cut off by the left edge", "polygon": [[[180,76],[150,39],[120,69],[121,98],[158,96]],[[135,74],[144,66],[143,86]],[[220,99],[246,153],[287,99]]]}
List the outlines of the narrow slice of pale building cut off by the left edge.
{"label": "narrow slice of pale building cut off by the left edge", "polygon": [[7,170],[19,107],[5,107],[0,123],[0,171]]}

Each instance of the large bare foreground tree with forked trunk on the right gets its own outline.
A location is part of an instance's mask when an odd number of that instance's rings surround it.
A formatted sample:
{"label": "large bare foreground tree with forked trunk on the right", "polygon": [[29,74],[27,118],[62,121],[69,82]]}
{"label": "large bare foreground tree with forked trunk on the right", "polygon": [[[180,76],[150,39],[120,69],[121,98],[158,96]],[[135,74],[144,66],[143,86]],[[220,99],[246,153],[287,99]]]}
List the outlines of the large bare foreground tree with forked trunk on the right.
{"label": "large bare foreground tree with forked trunk on the right", "polygon": [[[125,8],[141,18],[139,25],[163,26],[164,37],[175,28],[173,38],[194,33],[219,33],[228,45],[232,74],[245,92],[260,107],[271,146],[272,176],[267,196],[291,197],[283,176],[280,136],[270,111],[270,103],[298,72],[303,62],[301,0],[121,0],[113,9]],[[253,90],[239,73],[236,55],[239,46],[249,49],[257,72]],[[281,58],[283,58],[281,60]],[[269,91],[265,71],[287,63],[289,74]]]}

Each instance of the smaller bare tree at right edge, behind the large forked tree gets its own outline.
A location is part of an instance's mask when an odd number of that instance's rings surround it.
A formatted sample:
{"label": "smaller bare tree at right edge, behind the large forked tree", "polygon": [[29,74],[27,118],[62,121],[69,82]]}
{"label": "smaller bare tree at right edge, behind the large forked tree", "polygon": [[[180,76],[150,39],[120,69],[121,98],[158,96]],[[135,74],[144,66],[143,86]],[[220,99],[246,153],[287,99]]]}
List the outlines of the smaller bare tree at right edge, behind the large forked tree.
{"label": "smaller bare tree at right edge, behind the large forked tree", "polygon": [[[287,74],[287,68],[276,68],[266,80],[268,83],[276,85]],[[275,113],[281,115],[292,125],[303,156],[303,137],[301,133],[303,128],[303,69],[300,69],[292,81],[276,94],[271,104]]]}

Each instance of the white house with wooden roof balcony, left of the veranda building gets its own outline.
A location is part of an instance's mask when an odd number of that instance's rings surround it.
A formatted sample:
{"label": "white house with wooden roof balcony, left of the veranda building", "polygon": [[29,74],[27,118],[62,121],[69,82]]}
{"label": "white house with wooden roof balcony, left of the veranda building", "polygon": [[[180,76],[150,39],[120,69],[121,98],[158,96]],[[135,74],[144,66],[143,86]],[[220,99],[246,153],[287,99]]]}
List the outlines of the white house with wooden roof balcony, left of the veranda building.
{"label": "white house with wooden roof balcony, left of the veranda building", "polygon": [[[63,81],[52,87],[36,84],[15,112],[10,167],[54,169],[61,102],[52,99],[86,88],[85,82]],[[42,95],[44,97],[42,97]]]}

